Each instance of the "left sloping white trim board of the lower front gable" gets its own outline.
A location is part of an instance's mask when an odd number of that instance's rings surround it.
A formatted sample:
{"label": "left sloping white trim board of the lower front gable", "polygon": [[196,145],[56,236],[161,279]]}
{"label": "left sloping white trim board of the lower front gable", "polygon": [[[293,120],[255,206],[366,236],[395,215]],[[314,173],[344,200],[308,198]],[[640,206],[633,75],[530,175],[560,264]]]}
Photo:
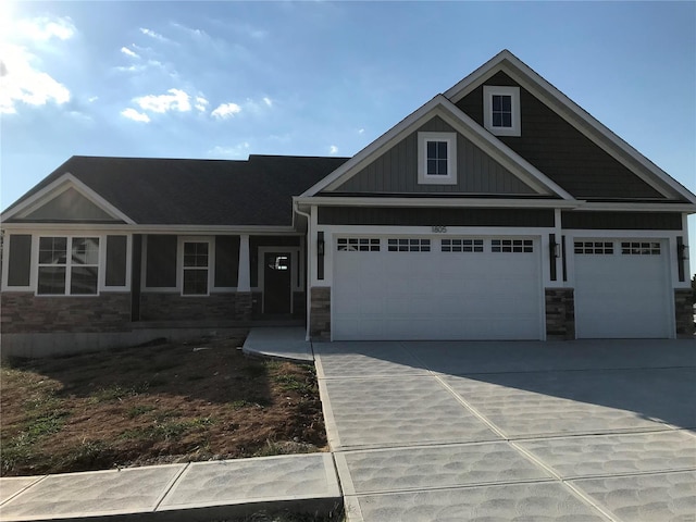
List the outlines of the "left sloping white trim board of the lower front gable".
{"label": "left sloping white trim board of the lower front gable", "polygon": [[334,172],[332,172],[328,176],[324,177],[321,182],[314,184],[307,190],[304,190],[299,197],[309,197],[313,196],[321,190],[330,188],[332,186],[340,185],[344,183],[350,174],[359,172],[365,164],[372,161],[373,157],[376,156],[383,147],[390,144],[391,141],[397,141],[402,134],[406,134],[407,130],[421,117],[426,115],[431,110],[433,110],[437,104],[442,102],[442,95],[436,96],[427,103],[422,105],[420,109],[417,109],[414,112],[406,116],[398,124],[391,127],[389,130],[384,133],[377,139],[368,145],[360,152],[356,153],[350,160],[340,165]]}

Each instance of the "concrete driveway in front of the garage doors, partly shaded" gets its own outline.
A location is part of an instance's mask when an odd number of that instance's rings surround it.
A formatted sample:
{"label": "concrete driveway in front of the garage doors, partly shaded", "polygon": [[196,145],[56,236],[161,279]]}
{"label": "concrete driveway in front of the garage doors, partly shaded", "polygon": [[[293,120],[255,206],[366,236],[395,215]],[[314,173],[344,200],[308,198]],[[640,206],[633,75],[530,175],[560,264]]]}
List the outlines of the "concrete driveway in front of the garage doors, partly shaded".
{"label": "concrete driveway in front of the garage doors, partly shaded", "polygon": [[350,522],[696,521],[696,343],[315,344]]}

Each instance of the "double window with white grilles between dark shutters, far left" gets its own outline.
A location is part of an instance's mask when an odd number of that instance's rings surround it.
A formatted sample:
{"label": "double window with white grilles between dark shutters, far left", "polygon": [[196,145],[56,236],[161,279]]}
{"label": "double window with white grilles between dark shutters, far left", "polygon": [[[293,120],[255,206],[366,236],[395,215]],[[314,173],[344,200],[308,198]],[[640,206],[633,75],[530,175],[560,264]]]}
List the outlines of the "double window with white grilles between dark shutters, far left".
{"label": "double window with white grilles between dark shutters, far left", "polygon": [[98,237],[40,237],[37,294],[97,295]]}

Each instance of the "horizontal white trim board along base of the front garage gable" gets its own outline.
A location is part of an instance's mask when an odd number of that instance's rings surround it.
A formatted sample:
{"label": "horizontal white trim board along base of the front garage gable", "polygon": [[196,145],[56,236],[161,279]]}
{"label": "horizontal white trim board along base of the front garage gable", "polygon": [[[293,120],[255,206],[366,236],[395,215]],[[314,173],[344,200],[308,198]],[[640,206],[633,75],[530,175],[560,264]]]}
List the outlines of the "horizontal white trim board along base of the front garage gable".
{"label": "horizontal white trim board along base of the front garage gable", "polygon": [[529,208],[529,209],[574,209],[580,200],[562,199],[490,199],[490,198],[361,198],[308,196],[298,197],[301,206],[319,207],[442,207],[442,208]]}

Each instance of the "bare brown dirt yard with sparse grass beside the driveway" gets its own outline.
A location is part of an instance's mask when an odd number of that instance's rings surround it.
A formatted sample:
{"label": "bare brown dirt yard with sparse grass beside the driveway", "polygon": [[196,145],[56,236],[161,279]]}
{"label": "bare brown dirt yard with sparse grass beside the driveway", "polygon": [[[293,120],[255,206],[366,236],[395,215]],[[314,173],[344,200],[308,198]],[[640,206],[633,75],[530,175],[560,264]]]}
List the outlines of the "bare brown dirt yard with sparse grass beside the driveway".
{"label": "bare brown dirt yard with sparse grass beside the driveway", "polygon": [[244,338],[3,362],[1,475],[320,451],[312,365]]}

